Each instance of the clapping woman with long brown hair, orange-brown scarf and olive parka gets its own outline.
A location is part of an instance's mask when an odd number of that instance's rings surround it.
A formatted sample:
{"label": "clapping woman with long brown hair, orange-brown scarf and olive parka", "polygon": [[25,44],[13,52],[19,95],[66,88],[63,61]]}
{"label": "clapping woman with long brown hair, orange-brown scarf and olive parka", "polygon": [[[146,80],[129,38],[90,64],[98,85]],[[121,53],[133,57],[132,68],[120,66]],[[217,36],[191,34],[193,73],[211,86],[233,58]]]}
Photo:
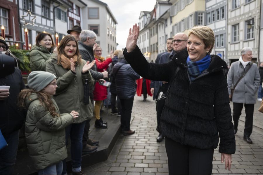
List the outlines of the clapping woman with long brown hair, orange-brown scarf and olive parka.
{"label": "clapping woman with long brown hair, orange-brown scarf and olive parka", "polygon": [[[89,64],[81,59],[78,43],[71,35],[65,36],[58,46],[58,55],[48,60],[46,71],[58,77],[56,94],[53,96],[58,108],[62,113],[75,110],[79,117],[66,127],[66,145],[68,136],[71,140],[71,162],[73,174],[81,172],[82,135],[85,121],[93,117],[92,104],[89,96],[84,99],[84,83],[87,81],[89,87],[94,84],[89,69],[95,61]],[[89,92],[87,92],[89,94]],[[89,103],[84,103],[84,100]],[[66,173],[66,164],[63,161],[63,174]]]}

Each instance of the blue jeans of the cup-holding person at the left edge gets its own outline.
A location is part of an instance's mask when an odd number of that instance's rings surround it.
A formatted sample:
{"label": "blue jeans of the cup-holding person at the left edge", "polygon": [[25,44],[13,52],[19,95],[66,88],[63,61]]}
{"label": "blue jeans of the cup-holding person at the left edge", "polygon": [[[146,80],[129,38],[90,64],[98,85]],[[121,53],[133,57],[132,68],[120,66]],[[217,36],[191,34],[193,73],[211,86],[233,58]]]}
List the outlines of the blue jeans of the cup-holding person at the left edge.
{"label": "blue jeans of the cup-holding person at the left edge", "polygon": [[8,146],[0,150],[0,174],[12,174],[19,140],[19,130],[3,135]]}

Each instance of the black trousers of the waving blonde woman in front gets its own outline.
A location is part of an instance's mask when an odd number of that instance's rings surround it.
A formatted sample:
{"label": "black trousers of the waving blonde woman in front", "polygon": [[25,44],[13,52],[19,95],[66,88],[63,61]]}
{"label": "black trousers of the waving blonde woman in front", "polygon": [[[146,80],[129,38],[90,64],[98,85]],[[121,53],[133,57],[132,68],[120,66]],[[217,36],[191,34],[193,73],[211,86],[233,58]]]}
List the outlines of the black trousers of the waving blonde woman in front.
{"label": "black trousers of the waving blonde woman in front", "polygon": [[214,149],[185,146],[165,137],[169,174],[212,174]]}

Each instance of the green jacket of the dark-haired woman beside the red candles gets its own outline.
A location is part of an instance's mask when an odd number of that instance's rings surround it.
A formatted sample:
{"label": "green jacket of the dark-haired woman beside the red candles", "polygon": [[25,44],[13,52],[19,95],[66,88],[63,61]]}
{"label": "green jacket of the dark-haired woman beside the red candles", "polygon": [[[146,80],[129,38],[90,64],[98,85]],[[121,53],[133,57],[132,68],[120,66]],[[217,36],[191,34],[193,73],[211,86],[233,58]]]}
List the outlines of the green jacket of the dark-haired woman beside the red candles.
{"label": "green jacket of the dark-haired woman beside the red candles", "polygon": [[32,46],[30,50],[30,68],[31,71],[46,71],[46,61],[51,58],[51,52],[43,46]]}

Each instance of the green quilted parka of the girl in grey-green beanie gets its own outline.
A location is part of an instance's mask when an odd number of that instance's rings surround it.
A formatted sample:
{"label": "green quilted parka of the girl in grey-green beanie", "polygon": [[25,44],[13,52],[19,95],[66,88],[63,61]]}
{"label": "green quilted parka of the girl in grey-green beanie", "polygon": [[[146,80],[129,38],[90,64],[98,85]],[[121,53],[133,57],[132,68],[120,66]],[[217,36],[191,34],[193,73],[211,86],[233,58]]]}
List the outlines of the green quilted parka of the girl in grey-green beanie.
{"label": "green quilted parka of the girl in grey-green beanie", "polygon": [[[32,99],[32,100],[29,100]],[[67,158],[65,145],[65,127],[70,125],[73,116],[69,113],[53,117],[43,107],[36,93],[26,100],[28,108],[25,121],[27,149],[36,169],[44,169]],[[52,99],[56,112],[56,102]]]}

